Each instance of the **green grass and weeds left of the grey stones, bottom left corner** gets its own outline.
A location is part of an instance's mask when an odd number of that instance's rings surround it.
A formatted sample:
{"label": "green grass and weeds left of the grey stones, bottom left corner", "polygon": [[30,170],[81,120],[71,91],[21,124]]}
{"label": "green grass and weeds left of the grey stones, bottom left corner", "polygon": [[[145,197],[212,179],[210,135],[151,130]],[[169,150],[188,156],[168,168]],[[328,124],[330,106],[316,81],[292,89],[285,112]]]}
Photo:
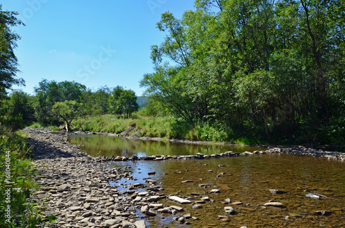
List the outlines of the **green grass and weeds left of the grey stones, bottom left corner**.
{"label": "green grass and weeds left of the grey stones, bottom left corner", "polygon": [[37,189],[30,147],[21,132],[0,129],[0,227],[36,227],[39,204],[30,199]]}

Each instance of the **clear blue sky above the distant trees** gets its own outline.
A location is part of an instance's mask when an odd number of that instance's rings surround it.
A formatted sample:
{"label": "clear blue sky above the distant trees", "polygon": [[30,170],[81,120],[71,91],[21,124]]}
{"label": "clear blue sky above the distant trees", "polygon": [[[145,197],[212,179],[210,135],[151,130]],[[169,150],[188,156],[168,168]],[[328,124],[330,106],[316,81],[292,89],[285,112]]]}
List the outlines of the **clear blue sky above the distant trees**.
{"label": "clear blue sky above the distant trees", "polygon": [[15,50],[18,77],[33,94],[42,79],[76,81],[90,89],[121,85],[141,96],[139,81],[152,72],[150,46],[166,34],[156,28],[161,13],[181,18],[193,0],[4,0],[26,26]]}

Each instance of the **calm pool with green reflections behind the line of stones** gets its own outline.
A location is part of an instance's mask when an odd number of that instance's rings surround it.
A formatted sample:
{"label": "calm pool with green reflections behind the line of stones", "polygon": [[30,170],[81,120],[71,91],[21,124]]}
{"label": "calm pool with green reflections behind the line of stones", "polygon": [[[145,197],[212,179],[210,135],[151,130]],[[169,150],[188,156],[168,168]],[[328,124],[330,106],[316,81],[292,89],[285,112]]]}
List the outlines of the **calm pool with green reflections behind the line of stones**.
{"label": "calm pool with green reflections behind the line of stones", "polygon": [[193,155],[221,154],[227,151],[253,152],[262,150],[258,147],[230,146],[230,145],[190,145],[168,141],[140,141],[105,135],[77,134],[69,137],[70,143],[84,145],[83,150],[94,156],[152,156],[152,155]]}

